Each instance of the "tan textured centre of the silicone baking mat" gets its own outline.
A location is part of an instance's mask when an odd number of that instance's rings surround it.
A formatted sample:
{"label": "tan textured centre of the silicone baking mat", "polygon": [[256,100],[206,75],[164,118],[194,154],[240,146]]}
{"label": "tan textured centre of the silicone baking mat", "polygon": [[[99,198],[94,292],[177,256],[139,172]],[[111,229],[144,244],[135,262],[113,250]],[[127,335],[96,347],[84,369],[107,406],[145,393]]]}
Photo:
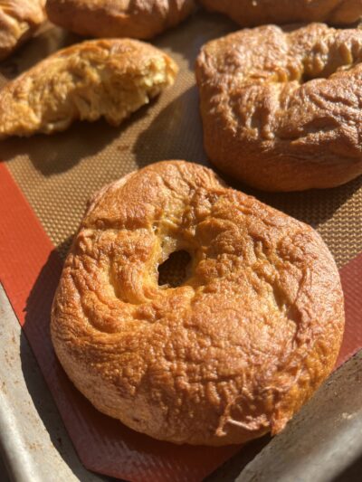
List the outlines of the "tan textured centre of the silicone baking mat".
{"label": "tan textured centre of the silicone baking mat", "polygon": [[[222,15],[195,14],[157,37],[157,47],[180,67],[176,85],[119,128],[105,121],[77,123],[55,136],[12,138],[0,156],[14,175],[45,231],[62,253],[77,229],[85,203],[100,186],[143,165],[164,159],[206,163],[195,87],[194,64],[200,47],[234,30]],[[0,86],[69,43],[80,40],[61,29],[46,32],[0,64]],[[362,178],[337,189],[301,194],[263,194],[235,187],[316,227],[342,266],[362,250]]]}

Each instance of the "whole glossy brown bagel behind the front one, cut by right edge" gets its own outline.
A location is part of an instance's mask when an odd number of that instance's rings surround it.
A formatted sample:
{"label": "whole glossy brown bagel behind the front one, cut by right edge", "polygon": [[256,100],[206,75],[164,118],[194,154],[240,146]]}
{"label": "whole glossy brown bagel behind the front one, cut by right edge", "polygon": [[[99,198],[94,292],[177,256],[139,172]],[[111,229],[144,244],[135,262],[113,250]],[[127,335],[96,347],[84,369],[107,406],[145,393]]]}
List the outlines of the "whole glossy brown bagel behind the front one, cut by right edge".
{"label": "whole glossy brown bagel behind the front one, cut by right edge", "polygon": [[362,173],[362,31],[267,25],[207,43],[196,62],[205,150],[269,191]]}

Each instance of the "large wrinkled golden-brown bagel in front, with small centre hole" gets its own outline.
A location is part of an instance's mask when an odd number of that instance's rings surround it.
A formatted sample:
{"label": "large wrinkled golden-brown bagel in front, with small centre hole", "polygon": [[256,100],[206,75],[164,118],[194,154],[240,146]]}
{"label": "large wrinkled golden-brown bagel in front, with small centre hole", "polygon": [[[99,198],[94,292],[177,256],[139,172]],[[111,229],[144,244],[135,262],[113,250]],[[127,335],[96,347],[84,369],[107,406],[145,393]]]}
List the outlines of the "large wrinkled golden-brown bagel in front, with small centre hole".
{"label": "large wrinkled golden-brown bagel in front, with small centre hole", "polygon": [[[159,286],[177,250],[189,276]],[[100,411],[175,443],[281,431],[332,370],[338,270],[310,226],[167,161],[90,202],[52,306],[52,343]]]}

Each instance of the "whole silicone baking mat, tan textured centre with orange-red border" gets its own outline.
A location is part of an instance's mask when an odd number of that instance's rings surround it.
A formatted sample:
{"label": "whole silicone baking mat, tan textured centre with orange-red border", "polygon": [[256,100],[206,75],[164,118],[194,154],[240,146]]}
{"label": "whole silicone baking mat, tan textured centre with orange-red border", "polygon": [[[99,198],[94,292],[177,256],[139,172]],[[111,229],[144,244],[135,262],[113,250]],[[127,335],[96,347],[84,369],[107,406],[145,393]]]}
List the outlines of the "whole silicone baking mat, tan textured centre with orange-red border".
{"label": "whole silicone baking mat, tan textured centre with orange-red border", "polygon": [[[176,447],[148,439],[101,415],[65,377],[54,357],[48,328],[61,257],[90,194],[158,160],[180,158],[207,164],[195,88],[195,57],[203,43],[234,29],[234,24],[219,15],[198,13],[159,36],[154,43],[180,66],[176,85],[120,128],[110,128],[103,121],[77,123],[52,137],[9,139],[0,145],[4,161],[0,164],[1,281],[82,462],[87,468],[113,477],[135,481],[201,480],[240,449]],[[1,84],[78,40],[47,25],[33,42],[1,64]],[[338,266],[346,265],[341,274],[348,329],[339,363],[362,346],[362,259],[357,257],[362,250],[361,184],[359,178],[336,189],[300,194],[257,193],[233,184],[312,224],[329,245]]]}

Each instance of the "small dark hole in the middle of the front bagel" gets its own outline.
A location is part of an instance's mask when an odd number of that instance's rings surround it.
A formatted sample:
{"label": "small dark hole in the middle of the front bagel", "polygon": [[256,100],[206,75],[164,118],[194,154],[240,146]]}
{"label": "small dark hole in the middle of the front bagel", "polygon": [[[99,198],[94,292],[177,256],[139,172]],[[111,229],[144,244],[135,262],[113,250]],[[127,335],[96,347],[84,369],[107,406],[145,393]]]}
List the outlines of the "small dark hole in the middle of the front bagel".
{"label": "small dark hole in the middle of the front bagel", "polygon": [[191,255],[186,250],[174,251],[158,266],[158,286],[177,288],[189,277]]}

